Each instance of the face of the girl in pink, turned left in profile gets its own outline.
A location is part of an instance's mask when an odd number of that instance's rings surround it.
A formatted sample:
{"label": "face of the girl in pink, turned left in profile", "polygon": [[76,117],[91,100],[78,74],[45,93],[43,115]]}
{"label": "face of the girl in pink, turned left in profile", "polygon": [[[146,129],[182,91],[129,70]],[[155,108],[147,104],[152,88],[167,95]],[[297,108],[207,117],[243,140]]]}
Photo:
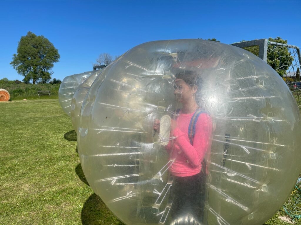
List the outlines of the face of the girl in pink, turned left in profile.
{"label": "face of the girl in pink, turned left in profile", "polygon": [[194,93],[197,91],[197,86],[190,86],[182,79],[175,79],[175,97],[181,103],[189,102],[193,99]]}

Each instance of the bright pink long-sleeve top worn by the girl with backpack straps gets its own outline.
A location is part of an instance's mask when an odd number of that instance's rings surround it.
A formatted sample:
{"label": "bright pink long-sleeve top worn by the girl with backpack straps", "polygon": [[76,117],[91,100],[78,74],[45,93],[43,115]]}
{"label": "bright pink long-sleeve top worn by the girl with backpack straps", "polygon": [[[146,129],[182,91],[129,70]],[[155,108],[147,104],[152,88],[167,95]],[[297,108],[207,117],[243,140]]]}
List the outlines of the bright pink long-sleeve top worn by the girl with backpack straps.
{"label": "bright pink long-sleeve top worn by the girl with backpack straps", "polygon": [[176,120],[177,127],[170,136],[176,137],[169,141],[166,150],[169,159],[174,160],[169,167],[173,176],[185,177],[200,173],[202,161],[210,146],[212,133],[211,117],[207,113],[201,113],[195,125],[193,145],[188,137],[188,127],[194,113],[181,113]]}

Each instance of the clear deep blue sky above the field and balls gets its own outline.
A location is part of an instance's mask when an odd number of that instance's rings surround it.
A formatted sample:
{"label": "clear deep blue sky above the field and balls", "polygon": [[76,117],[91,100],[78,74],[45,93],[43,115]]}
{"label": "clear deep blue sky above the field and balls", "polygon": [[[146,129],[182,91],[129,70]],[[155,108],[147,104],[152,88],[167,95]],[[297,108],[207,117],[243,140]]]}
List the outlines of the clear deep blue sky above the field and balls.
{"label": "clear deep blue sky above the field and balls", "polygon": [[6,1],[0,0],[0,79],[22,80],[9,64],[28,31],[58,49],[53,78],[92,70],[100,53],[121,55],[156,40],[281,37],[301,47],[300,0]]}

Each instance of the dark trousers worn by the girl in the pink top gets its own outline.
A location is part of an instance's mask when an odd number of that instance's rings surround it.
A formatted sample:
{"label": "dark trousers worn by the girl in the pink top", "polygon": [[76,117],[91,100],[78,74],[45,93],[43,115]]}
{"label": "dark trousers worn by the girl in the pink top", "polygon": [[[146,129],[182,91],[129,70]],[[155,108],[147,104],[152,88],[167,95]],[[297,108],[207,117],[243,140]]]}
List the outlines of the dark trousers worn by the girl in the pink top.
{"label": "dark trousers worn by the girl in the pink top", "polygon": [[205,179],[203,172],[188,177],[173,177],[170,210],[171,218],[177,220],[177,224],[202,224]]}

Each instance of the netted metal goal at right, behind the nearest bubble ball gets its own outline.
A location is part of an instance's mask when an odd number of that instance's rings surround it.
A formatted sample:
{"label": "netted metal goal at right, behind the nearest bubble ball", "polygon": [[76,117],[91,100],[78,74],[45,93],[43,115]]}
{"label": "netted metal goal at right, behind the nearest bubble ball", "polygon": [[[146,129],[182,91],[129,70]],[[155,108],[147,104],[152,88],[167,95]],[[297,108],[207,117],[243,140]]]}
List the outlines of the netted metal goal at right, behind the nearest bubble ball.
{"label": "netted metal goal at right, behind the nearest bubble ball", "polygon": [[[266,61],[290,88],[301,111],[301,55],[297,46],[260,39],[232,44],[243,48]],[[301,173],[293,191],[283,205],[292,218],[301,219]]]}

